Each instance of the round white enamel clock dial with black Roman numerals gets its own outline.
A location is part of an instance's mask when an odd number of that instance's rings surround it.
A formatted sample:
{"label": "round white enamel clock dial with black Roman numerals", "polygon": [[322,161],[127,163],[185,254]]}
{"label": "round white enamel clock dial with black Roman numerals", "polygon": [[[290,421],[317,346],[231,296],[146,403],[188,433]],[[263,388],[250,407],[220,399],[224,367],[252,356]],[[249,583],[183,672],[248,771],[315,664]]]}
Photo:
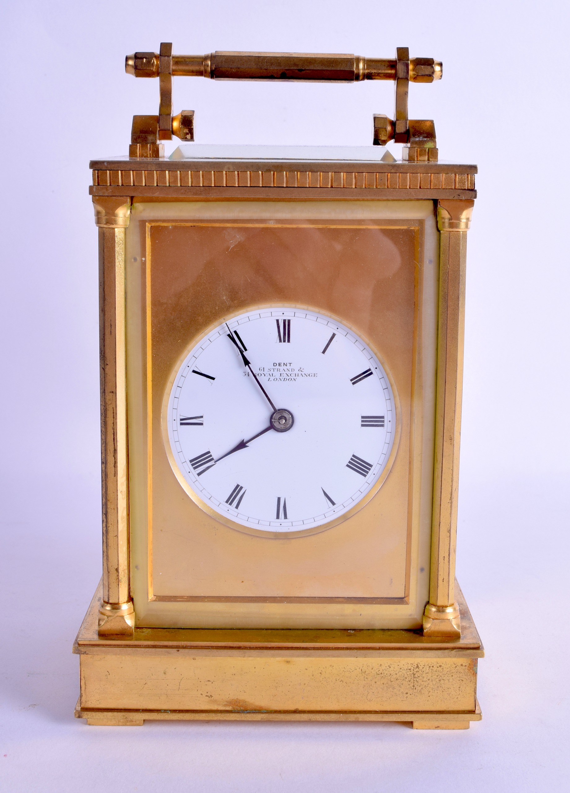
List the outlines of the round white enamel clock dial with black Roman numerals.
{"label": "round white enamel clock dial with black Roman numerals", "polygon": [[258,309],[209,332],[165,408],[170,462],[193,499],[272,534],[354,511],[396,430],[377,356],[337,320],[299,308]]}

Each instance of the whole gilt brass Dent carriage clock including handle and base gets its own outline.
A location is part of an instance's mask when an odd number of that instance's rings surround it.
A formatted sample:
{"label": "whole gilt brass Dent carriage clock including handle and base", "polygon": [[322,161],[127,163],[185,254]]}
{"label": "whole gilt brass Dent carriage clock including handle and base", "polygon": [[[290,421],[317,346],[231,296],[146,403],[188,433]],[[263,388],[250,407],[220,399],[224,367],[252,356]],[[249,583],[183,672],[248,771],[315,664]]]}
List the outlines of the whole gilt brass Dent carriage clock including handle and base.
{"label": "whole gilt brass Dent carriage clock including handle and base", "polygon": [[[442,64],[137,52],[159,115],[93,168],[103,578],[76,716],[480,719],[454,582],[476,167],[438,162],[409,82]],[[179,147],[173,75],[396,83],[377,147]]]}

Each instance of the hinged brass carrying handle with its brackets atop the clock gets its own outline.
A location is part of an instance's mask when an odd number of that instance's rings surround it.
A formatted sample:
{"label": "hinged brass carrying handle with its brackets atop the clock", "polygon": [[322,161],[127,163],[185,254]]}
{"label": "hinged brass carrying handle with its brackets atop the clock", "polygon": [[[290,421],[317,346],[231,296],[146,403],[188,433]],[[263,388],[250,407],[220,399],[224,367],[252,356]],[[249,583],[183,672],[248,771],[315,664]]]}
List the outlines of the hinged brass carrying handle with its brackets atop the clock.
{"label": "hinged brass carrying handle with its brackets atop the clock", "polygon": [[365,58],[346,54],[297,52],[212,52],[208,55],[172,55],[172,44],[161,44],[160,52],[135,52],[124,63],[135,77],[158,77],[158,116],[135,116],[132,120],[130,157],[161,157],[160,140],[194,140],[193,110],[172,116],[173,76],[205,77],[214,80],[268,80],[291,82],[396,82],[394,120],[375,115],[373,144],[389,140],[407,144],[404,159],[437,161],[433,121],[409,121],[407,93],[410,82],[434,82],[442,77],[442,63],[433,58],[410,59],[407,47],[396,49],[396,59]]}

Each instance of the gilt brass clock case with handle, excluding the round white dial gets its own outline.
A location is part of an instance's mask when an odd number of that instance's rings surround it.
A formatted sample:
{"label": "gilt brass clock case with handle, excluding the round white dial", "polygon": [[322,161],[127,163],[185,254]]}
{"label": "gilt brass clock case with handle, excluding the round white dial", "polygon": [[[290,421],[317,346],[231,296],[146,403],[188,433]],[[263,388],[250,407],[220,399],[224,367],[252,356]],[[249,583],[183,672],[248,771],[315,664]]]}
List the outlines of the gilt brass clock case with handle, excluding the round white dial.
{"label": "gilt brass clock case with handle, excluding the round white dial", "polygon": [[[212,54],[209,76],[226,58],[261,79],[273,61],[250,56]],[[433,122],[408,125],[410,64],[417,77],[430,59],[411,62],[405,48],[372,78],[364,59],[358,78],[396,79],[396,121],[384,127],[407,140],[403,162],[372,147],[191,145],[162,159],[169,80],[176,69],[197,75],[196,57],[163,44],[160,56],[127,60],[132,74],[161,78],[160,115],[135,117],[131,159],[91,163],[104,553],[75,643],[76,715],[465,728],[480,718],[483,655],[454,580],[476,167],[438,163]],[[373,488],[330,523],[289,534],[208,508],[177,473],[166,429],[189,348],[267,306],[322,312],[354,331],[394,399],[396,434]]]}

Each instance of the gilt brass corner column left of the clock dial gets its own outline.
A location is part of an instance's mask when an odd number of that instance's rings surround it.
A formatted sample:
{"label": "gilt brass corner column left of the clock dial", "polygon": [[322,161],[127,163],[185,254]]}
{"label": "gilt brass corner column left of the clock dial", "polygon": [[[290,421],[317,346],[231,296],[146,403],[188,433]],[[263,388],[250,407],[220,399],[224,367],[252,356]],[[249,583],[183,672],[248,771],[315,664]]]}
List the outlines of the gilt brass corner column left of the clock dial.
{"label": "gilt brass corner column left of the clock dial", "polygon": [[99,228],[103,600],[99,636],[132,636],[128,573],[128,446],[125,369],[124,229],[131,199],[93,197]]}

